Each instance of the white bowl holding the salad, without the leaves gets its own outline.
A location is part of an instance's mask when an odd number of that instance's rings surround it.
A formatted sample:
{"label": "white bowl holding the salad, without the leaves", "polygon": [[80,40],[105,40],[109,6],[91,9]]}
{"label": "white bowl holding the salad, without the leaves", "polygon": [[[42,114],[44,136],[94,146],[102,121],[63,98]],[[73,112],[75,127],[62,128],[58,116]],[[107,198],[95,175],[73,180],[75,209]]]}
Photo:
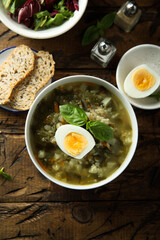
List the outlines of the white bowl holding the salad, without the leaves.
{"label": "white bowl holding the salad, without the leaves", "polygon": [[34,31],[30,28],[27,28],[24,24],[19,24],[13,20],[3,8],[2,1],[0,1],[0,20],[9,29],[21,36],[33,39],[49,39],[69,31],[81,19],[87,7],[88,0],[79,0],[78,3],[79,11],[75,11],[73,17],[65,21],[60,26],[53,26],[45,30]]}

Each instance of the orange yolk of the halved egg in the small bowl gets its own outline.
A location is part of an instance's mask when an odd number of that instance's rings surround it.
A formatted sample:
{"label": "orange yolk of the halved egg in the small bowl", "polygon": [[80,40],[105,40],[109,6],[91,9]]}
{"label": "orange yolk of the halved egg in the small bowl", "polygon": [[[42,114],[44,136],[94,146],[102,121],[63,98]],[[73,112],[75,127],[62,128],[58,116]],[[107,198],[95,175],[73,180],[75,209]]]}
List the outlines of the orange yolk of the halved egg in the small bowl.
{"label": "orange yolk of the halved egg in the small bowl", "polygon": [[144,68],[137,69],[132,75],[134,86],[140,91],[146,91],[153,87],[156,80],[155,77]]}

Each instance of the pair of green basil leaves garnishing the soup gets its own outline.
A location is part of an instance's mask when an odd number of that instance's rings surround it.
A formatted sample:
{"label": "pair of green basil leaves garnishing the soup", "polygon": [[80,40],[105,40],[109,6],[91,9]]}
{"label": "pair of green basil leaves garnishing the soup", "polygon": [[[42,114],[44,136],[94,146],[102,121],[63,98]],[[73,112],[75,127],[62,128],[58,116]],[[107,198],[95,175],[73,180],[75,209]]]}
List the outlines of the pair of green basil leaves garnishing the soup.
{"label": "pair of green basil leaves garnishing the soup", "polygon": [[76,126],[84,126],[86,124],[86,129],[89,130],[93,136],[100,141],[107,142],[114,137],[111,127],[100,121],[88,121],[87,114],[78,106],[65,104],[61,105],[59,110],[66,122]]}

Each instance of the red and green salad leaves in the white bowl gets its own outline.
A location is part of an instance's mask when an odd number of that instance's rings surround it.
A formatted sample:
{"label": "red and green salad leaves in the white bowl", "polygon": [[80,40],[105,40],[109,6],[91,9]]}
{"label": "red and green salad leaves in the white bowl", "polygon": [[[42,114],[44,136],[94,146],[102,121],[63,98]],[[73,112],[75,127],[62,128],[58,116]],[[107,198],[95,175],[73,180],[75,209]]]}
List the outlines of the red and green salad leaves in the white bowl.
{"label": "red and green salad leaves in the white bowl", "polygon": [[12,18],[34,30],[59,26],[79,10],[78,0],[2,0]]}

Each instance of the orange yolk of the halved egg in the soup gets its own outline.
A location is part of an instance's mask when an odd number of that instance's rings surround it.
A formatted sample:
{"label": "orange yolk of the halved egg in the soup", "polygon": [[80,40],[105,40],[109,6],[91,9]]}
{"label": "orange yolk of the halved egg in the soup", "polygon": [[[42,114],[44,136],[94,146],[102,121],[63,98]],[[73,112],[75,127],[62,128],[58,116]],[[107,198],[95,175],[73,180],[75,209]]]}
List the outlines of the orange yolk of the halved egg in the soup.
{"label": "orange yolk of the halved egg in the soup", "polygon": [[64,148],[72,156],[79,155],[87,145],[87,138],[79,133],[71,132],[64,138]]}

